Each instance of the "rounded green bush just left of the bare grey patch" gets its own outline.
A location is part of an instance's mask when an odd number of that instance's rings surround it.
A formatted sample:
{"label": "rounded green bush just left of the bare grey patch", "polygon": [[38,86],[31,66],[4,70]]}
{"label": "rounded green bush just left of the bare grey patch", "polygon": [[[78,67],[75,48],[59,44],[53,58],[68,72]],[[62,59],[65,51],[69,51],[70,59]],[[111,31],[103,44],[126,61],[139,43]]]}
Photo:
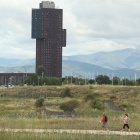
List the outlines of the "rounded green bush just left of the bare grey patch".
{"label": "rounded green bush just left of the bare grey patch", "polygon": [[98,110],[103,110],[104,109],[103,103],[99,100],[93,100],[91,102],[91,107],[94,108],[94,109],[98,109]]}

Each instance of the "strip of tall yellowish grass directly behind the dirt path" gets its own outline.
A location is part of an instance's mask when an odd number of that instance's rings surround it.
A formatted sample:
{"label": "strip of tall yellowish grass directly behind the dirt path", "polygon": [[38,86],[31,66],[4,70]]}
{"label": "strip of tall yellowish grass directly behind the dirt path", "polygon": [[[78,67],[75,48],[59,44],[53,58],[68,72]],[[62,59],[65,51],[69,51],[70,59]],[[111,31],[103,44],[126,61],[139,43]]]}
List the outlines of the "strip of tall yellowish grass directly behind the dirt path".
{"label": "strip of tall yellowish grass directly behind the dirt path", "polygon": [[[110,118],[109,118],[110,119]],[[84,129],[100,130],[100,118],[46,118],[46,119],[9,119],[1,118],[0,128],[28,129]],[[109,120],[109,130],[121,130],[122,121],[117,117]],[[140,131],[139,119],[130,122],[131,131]]]}

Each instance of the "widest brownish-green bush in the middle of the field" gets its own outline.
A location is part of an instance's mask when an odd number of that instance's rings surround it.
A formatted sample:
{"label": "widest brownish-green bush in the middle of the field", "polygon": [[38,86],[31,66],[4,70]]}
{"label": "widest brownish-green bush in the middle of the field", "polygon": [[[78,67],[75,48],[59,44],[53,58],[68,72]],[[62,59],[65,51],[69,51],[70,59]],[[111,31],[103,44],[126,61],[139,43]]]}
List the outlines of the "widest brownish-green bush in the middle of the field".
{"label": "widest brownish-green bush in the middle of the field", "polygon": [[75,108],[77,108],[79,105],[79,102],[76,100],[71,100],[65,103],[62,103],[60,105],[60,109],[62,109],[64,112],[72,112]]}

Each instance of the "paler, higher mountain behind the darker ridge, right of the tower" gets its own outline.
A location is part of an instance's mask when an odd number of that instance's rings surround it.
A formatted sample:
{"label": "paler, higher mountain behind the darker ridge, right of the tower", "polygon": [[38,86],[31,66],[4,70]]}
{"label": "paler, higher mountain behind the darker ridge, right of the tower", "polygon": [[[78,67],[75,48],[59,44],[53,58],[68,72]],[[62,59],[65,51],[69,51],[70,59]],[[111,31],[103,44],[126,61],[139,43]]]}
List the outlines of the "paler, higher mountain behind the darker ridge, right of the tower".
{"label": "paler, higher mountain behind the darker ridge, right of the tower", "polygon": [[63,60],[85,62],[110,69],[140,69],[140,50],[124,49],[89,55],[64,56]]}

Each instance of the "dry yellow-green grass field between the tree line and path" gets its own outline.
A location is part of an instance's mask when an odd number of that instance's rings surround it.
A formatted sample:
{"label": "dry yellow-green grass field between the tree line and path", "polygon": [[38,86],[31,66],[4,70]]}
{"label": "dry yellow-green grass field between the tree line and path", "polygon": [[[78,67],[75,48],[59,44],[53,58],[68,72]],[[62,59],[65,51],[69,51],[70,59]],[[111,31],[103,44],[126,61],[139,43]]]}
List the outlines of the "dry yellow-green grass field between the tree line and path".
{"label": "dry yellow-green grass field between the tree line and path", "polygon": [[[70,89],[71,97],[60,97],[65,88]],[[41,108],[35,106],[38,97],[45,98],[44,106]],[[73,99],[79,102],[74,116],[59,116],[58,114],[63,113],[60,105]],[[93,101],[99,101],[104,108],[93,108],[91,106]],[[67,85],[0,88],[0,128],[98,130],[101,129],[99,121],[102,112],[106,112],[109,129],[121,130],[122,117],[127,112],[131,131],[140,131],[139,103],[140,87],[134,86]],[[100,104],[97,104],[97,107]]]}

